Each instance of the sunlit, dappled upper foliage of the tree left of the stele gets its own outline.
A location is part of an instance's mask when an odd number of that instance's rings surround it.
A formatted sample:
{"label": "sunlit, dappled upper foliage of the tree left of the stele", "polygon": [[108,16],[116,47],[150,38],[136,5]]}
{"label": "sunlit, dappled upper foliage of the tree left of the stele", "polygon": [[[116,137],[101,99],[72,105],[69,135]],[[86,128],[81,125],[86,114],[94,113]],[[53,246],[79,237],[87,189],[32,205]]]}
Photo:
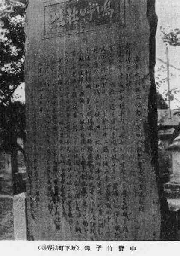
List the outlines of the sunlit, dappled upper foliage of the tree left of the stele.
{"label": "sunlit, dappled upper foliage of the tree left of the stele", "polygon": [[24,19],[27,0],[5,0],[0,6],[0,104],[9,104],[24,82]]}

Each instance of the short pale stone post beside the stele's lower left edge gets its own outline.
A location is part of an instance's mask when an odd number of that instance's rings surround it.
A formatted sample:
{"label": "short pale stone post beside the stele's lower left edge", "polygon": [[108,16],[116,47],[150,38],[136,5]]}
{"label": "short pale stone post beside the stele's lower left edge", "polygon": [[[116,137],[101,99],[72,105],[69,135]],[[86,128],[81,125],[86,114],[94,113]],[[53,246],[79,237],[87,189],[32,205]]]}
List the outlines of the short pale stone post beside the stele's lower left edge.
{"label": "short pale stone post beside the stele's lower left edge", "polygon": [[14,237],[15,240],[26,240],[26,194],[21,193],[13,198]]}

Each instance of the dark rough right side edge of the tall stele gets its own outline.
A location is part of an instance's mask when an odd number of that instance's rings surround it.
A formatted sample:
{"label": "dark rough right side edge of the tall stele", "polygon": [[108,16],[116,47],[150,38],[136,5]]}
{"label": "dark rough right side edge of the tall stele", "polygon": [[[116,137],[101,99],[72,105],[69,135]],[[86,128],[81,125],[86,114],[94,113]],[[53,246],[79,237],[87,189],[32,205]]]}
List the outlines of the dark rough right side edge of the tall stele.
{"label": "dark rough right side edge of the tall stele", "polygon": [[161,232],[160,240],[167,240],[168,238],[168,222],[169,222],[169,208],[168,201],[165,197],[162,182],[159,177],[159,164],[158,164],[158,129],[157,129],[157,91],[154,76],[154,67],[156,64],[156,28],[157,28],[157,15],[155,11],[155,1],[147,0],[147,18],[150,25],[150,38],[149,38],[149,71],[150,71],[150,93],[148,98],[148,122],[149,122],[149,135],[151,143],[151,154],[155,172],[156,181],[159,194],[160,213],[161,213]]}

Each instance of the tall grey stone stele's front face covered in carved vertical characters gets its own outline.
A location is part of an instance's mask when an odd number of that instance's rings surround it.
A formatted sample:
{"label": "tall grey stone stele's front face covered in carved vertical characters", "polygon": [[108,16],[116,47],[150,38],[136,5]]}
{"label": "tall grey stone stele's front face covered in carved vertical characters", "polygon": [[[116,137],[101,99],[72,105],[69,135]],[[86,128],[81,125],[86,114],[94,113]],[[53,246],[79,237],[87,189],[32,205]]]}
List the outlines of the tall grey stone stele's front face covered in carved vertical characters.
{"label": "tall grey stone stele's front face covered in carved vertical characters", "polygon": [[158,240],[153,0],[30,0],[34,240]]}

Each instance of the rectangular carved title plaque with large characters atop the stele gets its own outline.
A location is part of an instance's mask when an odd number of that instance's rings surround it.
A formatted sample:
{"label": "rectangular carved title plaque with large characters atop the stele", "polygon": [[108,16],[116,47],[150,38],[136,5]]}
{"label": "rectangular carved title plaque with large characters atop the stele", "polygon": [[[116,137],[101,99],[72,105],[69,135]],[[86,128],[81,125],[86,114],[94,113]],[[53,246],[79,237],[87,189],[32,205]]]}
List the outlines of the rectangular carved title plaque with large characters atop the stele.
{"label": "rectangular carved title plaque with large characters atop the stele", "polygon": [[124,0],[62,0],[44,4],[44,38],[125,25]]}

